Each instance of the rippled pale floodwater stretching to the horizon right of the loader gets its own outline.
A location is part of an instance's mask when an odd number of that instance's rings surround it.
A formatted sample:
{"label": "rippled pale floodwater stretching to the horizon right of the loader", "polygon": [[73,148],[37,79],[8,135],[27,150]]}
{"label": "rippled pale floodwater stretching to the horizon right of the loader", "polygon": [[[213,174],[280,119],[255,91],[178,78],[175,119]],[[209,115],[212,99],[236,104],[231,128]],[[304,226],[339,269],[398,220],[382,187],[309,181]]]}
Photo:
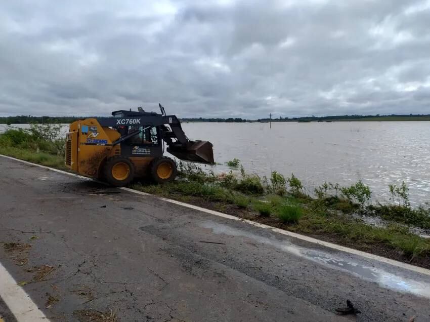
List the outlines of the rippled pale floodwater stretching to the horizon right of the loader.
{"label": "rippled pale floodwater stretching to the horizon right of the loader", "polygon": [[[240,159],[261,176],[294,173],[308,190],[319,184],[361,179],[373,199],[389,198],[388,185],[405,181],[416,206],[430,201],[430,122],[183,123],[191,139],[213,143],[223,165]],[[0,132],[6,126],[0,125]],[[66,131],[67,127],[65,127]]]}

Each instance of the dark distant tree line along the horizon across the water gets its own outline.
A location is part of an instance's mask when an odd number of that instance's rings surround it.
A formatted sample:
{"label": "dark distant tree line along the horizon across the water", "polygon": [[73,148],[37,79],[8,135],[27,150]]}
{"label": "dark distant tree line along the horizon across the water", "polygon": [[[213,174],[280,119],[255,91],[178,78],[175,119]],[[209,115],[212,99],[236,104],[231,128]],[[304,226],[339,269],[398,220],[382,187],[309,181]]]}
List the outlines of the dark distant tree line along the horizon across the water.
{"label": "dark distant tree line along the horizon across the water", "polygon": [[[72,123],[77,119],[97,116],[32,116],[17,115],[0,117],[0,124],[29,124],[29,123]],[[259,118],[244,119],[241,117],[228,118],[208,118],[208,117],[191,117],[181,118],[182,122],[226,122],[226,123],[244,123],[244,122],[333,122],[347,120],[430,120],[430,114],[390,114],[390,115],[331,115],[331,116],[302,116],[302,117],[278,117],[278,118]]]}

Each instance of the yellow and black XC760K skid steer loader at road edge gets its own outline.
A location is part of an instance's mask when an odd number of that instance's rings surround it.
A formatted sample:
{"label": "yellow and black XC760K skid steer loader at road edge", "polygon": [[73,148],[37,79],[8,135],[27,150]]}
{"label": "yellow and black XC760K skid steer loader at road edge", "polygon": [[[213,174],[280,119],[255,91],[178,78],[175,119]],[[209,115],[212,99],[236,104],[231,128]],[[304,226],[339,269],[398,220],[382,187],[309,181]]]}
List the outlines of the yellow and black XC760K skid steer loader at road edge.
{"label": "yellow and black XC760K skid steer loader at road edge", "polygon": [[190,141],[175,115],[119,110],[113,117],[77,120],[66,134],[66,166],[85,176],[124,186],[134,178],[152,177],[158,183],[175,180],[181,160],[213,164],[212,144]]}

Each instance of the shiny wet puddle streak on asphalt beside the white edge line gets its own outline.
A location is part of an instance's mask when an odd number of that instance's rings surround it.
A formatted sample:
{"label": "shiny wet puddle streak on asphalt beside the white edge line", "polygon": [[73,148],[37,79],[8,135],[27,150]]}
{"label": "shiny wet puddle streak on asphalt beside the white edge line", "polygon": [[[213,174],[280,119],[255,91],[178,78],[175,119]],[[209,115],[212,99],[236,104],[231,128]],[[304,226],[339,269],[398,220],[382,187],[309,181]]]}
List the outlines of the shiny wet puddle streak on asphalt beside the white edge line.
{"label": "shiny wet puddle streak on asphalt beside the white edge line", "polygon": [[[351,273],[360,278],[375,282],[381,287],[430,298],[430,284],[425,283],[423,281],[417,281],[411,278],[405,278],[400,274],[388,272],[382,268],[369,266],[369,263],[366,263],[366,260],[364,259],[353,261],[348,258],[341,258],[341,253],[339,253],[339,255],[337,256],[334,256],[332,254],[319,250],[299,247],[297,245],[287,242],[286,240],[281,242],[280,240],[275,238],[262,237],[253,233],[232,228],[227,225],[218,224],[212,221],[206,221],[202,223],[201,227],[211,229],[213,233],[216,234],[247,237],[255,240],[258,243],[273,246],[284,252],[307,258],[313,262],[317,262],[330,268]],[[396,268],[393,267],[393,270],[395,269]],[[427,277],[428,276],[425,276],[424,278]]]}

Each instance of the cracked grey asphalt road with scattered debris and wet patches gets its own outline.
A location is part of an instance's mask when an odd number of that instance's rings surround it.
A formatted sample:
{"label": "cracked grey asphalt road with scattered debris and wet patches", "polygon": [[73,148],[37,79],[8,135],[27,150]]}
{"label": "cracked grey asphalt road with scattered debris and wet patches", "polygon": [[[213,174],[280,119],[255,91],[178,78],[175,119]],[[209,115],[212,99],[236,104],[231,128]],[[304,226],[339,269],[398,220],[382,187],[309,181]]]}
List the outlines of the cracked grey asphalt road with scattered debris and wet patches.
{"label": "cracked grey asphalt road with scattered debris and wet patches", "polygon": [[[0,242],[31,245],[0,262],[52,320],[430,320],[429,275],[2,156],[0,169]],[[348,299],[361,313],[337,315]]]}

